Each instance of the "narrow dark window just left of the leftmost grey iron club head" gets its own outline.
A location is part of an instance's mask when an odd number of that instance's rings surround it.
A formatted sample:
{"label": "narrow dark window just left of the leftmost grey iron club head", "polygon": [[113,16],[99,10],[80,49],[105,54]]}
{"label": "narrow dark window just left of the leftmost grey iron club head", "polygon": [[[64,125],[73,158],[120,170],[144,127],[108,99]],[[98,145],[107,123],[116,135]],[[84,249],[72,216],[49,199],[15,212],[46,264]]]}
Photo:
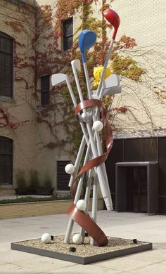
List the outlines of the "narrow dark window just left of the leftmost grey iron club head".
{"label": "narrow dark window just left of the leftmost grey iron club head", "polygon": [[49,104],[50,77],[45,75],[41,77],[41,105]]}

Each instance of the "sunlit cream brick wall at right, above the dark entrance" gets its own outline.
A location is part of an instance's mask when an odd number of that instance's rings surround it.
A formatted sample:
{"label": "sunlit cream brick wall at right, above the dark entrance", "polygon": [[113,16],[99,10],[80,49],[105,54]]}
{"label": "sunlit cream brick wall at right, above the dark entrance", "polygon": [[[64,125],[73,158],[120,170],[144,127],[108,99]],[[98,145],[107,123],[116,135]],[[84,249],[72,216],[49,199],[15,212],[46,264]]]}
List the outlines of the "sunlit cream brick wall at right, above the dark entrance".
{"label": "sunlit cream brick wall at right, above the dark entrance", "polygon": [[125,105],[129,112],[115,117],[113,123],[119,129],[116,136],[165,135],[166,100],[155,92],[166,95],[166,1],[115,0],[112,8],[121,18],[117,39],[122,34],[136,39],[137,46],[122,52],[122,56],[132,56],[146,69],[141,83],[121,81],[122,94],[115,96],[113,107]]}

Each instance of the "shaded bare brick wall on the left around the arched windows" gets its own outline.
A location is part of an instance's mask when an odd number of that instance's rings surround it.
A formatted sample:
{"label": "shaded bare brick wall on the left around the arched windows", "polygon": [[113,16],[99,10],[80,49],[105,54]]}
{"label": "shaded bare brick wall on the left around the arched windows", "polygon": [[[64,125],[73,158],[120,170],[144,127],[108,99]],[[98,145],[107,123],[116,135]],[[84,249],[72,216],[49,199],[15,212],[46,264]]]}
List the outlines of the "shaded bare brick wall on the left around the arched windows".
{"label": "shaded bare brick wall on the left around the arched windows", "polygon": [[[33,4],[32,1],[25,1]],[[35,34],[34,12],[28,11],[26,6],[19,4],[19,1],[1,1],[0,11],[0,31],[5,32],[23,44],[24,46],[16,45],[16,53],[19,58],[23,58],[23,62],[27,62],[25,67],[14,67],[13,78],[23,77],[29,86],[27,89],[25,81],[15,81],[13,83],[13,99],[1,98],[0,107],[4,107],[10,115],[12,122],[20,122],[28,120],[18,129],[12,130],[8,126],[0,129],[0,136],[5,136],[13,140],[13,186],[15,187],[15,174],[19,169],[24,170],[27,176],[27,181],[30,178],[30,169],[39,171],[41,183],[44,180],[45,174],[51,176],[53,187],[56,188],[56,159],[65,157],[69,159],[68,152],[64,152],[60,148],[48,149],[44,148],[46,143],[54,141],[53,135],[49,131],[49,127],[35,122],[36,102],[33,97],[34,93],[34,70],[31,65],[34,65],[31,57],[34,56],[32,39]],[[20,22],[22,29],[15,31],[12,24],[6,22]],[[45,42],[44,42],[45,43]],[[49,41],[48,41],[49,43]],[[46,51],[44,44],[40,44],[37,50]],[[15,55],[15,51],[14,51]],[[38,86],[40,89],[40,85]],[[40,96],[40,93],[39,93]],[[39,100],[37,105],[40,105]],[[38,107],[39,109],[39,107]],[[54,115],[52,119],[55,119]],[[58,131],[59,132],[59,131]],[[59,132],[59,134],[61,134]],[[4,185],[5,188],[5,185]],[[0,195],[3,193],[0,191]]]}

